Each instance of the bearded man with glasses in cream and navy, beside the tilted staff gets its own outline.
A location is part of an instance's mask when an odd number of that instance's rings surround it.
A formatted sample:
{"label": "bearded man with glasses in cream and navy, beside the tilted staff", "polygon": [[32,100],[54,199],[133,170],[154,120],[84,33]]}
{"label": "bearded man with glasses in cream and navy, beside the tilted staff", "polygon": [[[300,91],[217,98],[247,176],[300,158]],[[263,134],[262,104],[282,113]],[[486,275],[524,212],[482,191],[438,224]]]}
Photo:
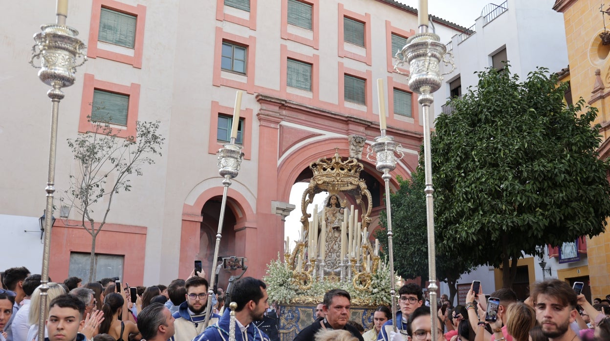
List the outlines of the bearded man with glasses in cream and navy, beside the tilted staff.
{"label": "bearded man with glasses in cream and navy, beside the tilted staff", "polygon": [[[186,301],[180,304],[178,311],[173,314],[174,320],[174,340],[191,341],[201,334],[207,326],[206,320],[207,289],[209,283],[203,277],[193,276],[184,283],[187,291]],[[220,315],[212,314],[208,325],[213,325],[218,321]]]}

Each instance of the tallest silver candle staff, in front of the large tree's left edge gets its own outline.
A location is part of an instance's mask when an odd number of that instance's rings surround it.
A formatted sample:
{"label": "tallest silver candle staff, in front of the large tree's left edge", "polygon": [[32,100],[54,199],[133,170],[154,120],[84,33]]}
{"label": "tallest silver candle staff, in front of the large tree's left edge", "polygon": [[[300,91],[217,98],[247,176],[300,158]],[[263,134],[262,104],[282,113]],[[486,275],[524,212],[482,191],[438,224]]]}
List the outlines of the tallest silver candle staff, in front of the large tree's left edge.
{"label": "tallest silver candle staff, in front of the large tree's left edge", "polygon": [[[440,84],[443,82],[443,74],[440,74],[439,64],[442,60],[448,66],[453,68],[448,73],[453,72],[455,65],[453,64],[453,56],[447,53],[447,48],[440,43],[438,35],[428,32],[428,1],[420,0],[418,8],[418,24],[419,33],[413,35],[407,40],[407,45],[396,54],[398,59],[394,69],[398,70],[399,65],[407,63],[409,65],[409,87],[414,92],[420,94],[418,96],[419,104],[422,104],[423,109],[423,146],[424,146],[424,168],[426,175],[426,220],[428,227],[428,275],[429,284],[428,292],[430,294],[430,302],[436,302],[437,290],[439,287],[436,284],[436,262],[435,262],[435,242],[434,242],[434,188],[432,187],[432,157],[430,146],[430,106],[434,102],[432,93],[439,90]],[[386,190],[387,192],[387,190]],[[430,309],[431,330],[436,331],[438,319],[436,311]]]}

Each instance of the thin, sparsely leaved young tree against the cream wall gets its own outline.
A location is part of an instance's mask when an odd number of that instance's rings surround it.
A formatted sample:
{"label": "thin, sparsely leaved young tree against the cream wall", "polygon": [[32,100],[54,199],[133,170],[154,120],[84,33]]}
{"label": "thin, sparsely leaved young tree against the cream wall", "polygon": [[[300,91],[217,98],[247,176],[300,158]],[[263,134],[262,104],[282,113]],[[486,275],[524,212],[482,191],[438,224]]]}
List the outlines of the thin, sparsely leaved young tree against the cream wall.
{"label": "thin, sparsely leaved young tree against the cream wall", "polygon": [[[110,212],[112,199],[121,191],[131,190],[130,177],[142,175],[142,166],[154,163],[152,156],[161,156],[165,138],[160,135],[159,121],[137,122],[137,136],[121,138],[110,124],[93,122],[94,132],[68,139],[77,174],[70,174],[70,188],[65,190],[63,204],[76,210],[79,224],[91,235],[91,257],[88,281],[95,275],[95,241]],[[99,201],[104,198],[104,202]],[[94,209],[104,209],[94,215]]]}

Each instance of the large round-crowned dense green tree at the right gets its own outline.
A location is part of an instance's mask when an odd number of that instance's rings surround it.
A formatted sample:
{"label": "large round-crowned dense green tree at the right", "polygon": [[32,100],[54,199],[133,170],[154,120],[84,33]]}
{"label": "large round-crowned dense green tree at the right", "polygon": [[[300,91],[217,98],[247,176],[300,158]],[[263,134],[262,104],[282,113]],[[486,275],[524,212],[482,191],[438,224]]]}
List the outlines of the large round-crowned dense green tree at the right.
{"label": "large round-crowned dense green tree at the right", "polygon": [[435,222],[475,265],[501,265],[510,287],[524,253],[605,231],[610,167],[596,151],[597,109],[566,105],[556,74],[539,68],[520,82],[506,65],[478,77],[436,120]]}

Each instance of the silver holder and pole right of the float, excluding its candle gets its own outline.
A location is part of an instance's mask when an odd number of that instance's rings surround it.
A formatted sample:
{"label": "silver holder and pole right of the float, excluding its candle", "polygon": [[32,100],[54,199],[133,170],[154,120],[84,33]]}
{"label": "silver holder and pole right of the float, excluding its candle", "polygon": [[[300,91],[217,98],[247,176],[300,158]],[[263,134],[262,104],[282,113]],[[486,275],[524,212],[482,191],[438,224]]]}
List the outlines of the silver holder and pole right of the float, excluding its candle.
{"label": "silver holder and pole right of the float, excluding its candle", "polygon": [[[380,115],[385,115],[385,113],[380,113]],[[390,256],[390,273],[392,274],[390,280],[390,299],[392,300],[391,310],[394,330],[396,330],[396,280],[394,275],[394,249],[392,246],[392,206],[390,205],[390,179],[392,179],[392,176],[390,171],[393,171],[396,168],[398,160],[403,158],[402,149],[403,147],[400,144],[394,142],[392,136],[386,135],[386,129],[382,129],[381,136],[376,137],[375,143],[368,146],[367,150],[367,159],[370,161],[373,161],[371,155],[375,153],[375,168],[383,173],[381,178],[386,185],[387,248]],[[399,157],[396,157],[396,154]]]}

